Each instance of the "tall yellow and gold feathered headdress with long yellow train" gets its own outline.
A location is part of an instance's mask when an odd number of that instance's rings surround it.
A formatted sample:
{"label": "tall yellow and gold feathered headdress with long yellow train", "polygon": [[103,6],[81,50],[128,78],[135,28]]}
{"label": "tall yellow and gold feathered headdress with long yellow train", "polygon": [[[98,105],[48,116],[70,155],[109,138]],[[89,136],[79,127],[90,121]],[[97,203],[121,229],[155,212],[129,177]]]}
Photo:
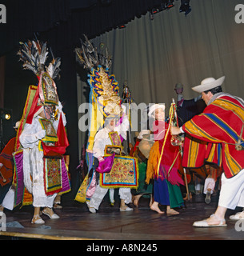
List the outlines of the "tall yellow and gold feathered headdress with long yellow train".
{"label": "tall yellow and gold feathered headdress with long yellow train", "polygon": [[118,82],[115,76],[109,74],[112,64],[108,50],[106,54],[98,53],[97,48],[84,35],[82,46],[75,49],[79,62],[85,69],[90,70],[88,83],[90,85],[90,131],[87,150],[92,151],[94,136],[103,126],[104,119],[110,115],[122,115],[121,98],[119,97]]}

